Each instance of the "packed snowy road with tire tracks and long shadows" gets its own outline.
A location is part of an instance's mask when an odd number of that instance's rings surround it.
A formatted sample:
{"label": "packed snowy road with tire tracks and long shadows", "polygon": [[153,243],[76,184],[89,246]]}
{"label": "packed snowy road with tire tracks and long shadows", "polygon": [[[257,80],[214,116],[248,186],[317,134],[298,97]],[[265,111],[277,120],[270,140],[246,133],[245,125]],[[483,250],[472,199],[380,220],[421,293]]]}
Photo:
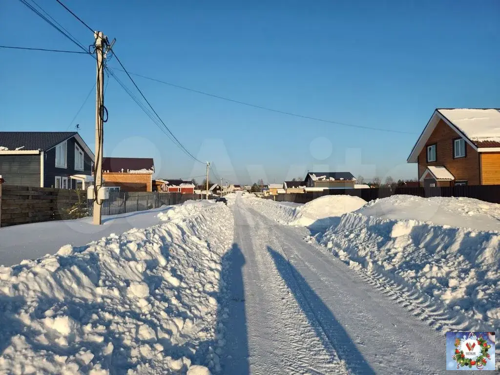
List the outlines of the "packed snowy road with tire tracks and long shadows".
{"label": "packed snowy road with tire tracks and long shadows", "polygon": [[240,275],[224,373],[443,373],[443,335],[397,298],[306,243],[304,228],[276,225],[240,196],[233,210]]}

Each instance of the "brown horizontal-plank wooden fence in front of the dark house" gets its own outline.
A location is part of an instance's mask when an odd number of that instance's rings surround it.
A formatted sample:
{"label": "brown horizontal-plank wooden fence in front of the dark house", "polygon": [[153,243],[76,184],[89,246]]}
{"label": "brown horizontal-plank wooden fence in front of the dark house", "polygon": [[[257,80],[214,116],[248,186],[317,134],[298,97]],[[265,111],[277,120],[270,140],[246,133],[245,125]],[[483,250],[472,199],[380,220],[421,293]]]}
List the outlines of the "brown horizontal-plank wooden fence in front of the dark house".
{"label": "brown horizontal-plank wooden fence in front of the dark house", "polygon": [[78,192],[68,189],[0,185],[0,225],[66,218],[67,209],[78,202]]}

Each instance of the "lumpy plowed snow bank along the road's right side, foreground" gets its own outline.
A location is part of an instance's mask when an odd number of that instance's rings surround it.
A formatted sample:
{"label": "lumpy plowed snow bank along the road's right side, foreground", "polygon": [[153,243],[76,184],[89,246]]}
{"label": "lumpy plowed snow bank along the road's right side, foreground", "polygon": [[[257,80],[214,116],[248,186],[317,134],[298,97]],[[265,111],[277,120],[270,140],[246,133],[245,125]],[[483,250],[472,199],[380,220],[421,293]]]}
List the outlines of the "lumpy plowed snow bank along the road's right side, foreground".
{"label": "lumpy plowed snow bank along the road's right side, foreground", "polygon": [[411,284],[470,322],[500,324],[500,232],[347,213],[318,241],[350,266]]}

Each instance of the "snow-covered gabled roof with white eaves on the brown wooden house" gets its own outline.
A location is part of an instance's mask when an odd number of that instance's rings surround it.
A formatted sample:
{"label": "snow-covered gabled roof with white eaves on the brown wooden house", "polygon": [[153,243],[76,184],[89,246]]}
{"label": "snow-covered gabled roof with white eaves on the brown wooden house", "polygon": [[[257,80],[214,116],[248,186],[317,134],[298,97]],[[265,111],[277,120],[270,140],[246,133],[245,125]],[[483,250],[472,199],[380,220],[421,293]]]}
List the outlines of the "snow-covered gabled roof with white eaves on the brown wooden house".
{"label": "snow-covered gabled roof with white eaves on the brown wooden house", "polygon": [[441,119],[476,151],[500,151],[499,109],[436,108],[411,149],[407,162],[417,162],[418,155]]}

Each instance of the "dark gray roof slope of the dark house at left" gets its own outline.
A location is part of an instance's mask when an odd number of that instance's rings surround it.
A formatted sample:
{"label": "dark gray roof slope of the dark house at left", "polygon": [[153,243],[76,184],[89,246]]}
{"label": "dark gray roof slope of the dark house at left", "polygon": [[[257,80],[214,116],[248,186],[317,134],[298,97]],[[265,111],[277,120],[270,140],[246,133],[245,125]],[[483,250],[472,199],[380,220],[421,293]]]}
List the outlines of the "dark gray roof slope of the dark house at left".
{"label": "dark gray roof slope of the dark house at left", "polygon": [[0,131],[0,146],[46,151],[75,134],[76,131]]}

